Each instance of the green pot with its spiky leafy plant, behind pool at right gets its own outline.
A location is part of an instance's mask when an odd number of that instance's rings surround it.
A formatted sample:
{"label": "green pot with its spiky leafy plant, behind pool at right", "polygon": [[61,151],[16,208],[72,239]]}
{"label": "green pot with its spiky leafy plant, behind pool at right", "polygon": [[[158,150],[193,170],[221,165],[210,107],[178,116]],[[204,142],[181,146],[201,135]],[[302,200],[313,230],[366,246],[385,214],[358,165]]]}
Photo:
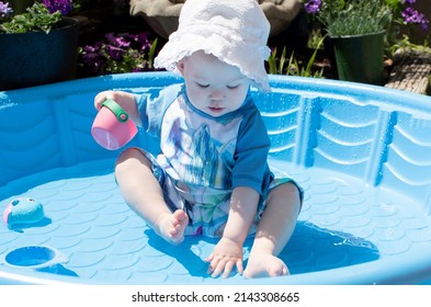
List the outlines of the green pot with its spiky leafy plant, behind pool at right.
{"label": "green pot with its spiky leafy plant, behind pool at right", "polygon": [[340,80],[382,84],[384,37],[392,22],[385,0],[304,1],[328,33]]}

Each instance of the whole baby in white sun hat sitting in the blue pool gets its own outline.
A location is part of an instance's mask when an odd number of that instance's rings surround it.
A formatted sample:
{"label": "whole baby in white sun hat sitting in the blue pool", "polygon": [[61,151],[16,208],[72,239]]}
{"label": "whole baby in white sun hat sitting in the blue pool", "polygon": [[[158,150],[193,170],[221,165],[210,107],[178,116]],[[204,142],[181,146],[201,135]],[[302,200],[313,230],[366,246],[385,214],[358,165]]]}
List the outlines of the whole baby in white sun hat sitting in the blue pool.
{"label": "whole baby in white sun hat sitting in the blue pool", "polygon": [[[206,259],[208,273],[227,277],[288,274],[277,258],[296,225],[302,190],[275,179],[268,166],[270,139],[250,95],[269,91],[264,60],[270,25],[256,0],[188,0],[179,29],[155,65],[184,82],[157,96],[104,91],[99,110],[115,100],[161,154],[126,149],[115,175],[125,202],[160,237],[179,245],[186,235],[219,237]],[[254,235],[248,265],[246,238]]]}

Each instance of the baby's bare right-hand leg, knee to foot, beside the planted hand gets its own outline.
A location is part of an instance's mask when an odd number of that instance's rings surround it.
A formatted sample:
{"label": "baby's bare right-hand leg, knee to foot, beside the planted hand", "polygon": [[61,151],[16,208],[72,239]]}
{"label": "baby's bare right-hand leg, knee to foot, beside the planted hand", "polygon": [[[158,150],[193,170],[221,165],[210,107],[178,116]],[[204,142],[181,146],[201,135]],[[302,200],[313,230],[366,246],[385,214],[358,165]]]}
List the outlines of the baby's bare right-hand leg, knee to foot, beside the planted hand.
{"label": "baby's bare right-hand leg, knee to foot, beside the planted hand", "polygon": [[299,192],[293,183],[276,186],[266,200],[266,209],[258,226],[245,277],[288,274],[286,264],[277,258],[295,229],[299,214]]}

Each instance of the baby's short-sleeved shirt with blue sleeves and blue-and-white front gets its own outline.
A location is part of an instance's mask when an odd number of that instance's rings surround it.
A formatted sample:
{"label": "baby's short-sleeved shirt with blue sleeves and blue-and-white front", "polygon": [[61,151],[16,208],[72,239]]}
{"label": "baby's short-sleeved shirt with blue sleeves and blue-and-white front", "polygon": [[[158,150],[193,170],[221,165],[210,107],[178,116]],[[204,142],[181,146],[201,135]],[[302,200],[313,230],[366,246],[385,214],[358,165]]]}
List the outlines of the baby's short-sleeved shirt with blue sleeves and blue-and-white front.
{"label": "baby's short-sleeved shirt with blue sleeves and blue-and-white front", "polygon": [[136,96],[143,127],[160,139],[166,172],[175,184],[265,195],[273,178],[270,139],[250,93],[238,110],[213,117],[194,107],[183,84]]}

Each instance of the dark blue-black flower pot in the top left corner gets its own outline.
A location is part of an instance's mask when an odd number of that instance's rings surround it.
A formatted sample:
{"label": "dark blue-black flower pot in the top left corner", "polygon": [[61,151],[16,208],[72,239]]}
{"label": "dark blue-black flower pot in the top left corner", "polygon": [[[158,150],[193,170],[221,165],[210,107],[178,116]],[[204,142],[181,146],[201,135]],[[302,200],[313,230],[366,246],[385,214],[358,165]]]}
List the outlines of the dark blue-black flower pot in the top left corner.
{"label": "dark blue-black flower pot in the top left corner", "polygon": [[78,27],[78,21],[63,18],[49,34],[0,34],[0,90],[73,79]]}

